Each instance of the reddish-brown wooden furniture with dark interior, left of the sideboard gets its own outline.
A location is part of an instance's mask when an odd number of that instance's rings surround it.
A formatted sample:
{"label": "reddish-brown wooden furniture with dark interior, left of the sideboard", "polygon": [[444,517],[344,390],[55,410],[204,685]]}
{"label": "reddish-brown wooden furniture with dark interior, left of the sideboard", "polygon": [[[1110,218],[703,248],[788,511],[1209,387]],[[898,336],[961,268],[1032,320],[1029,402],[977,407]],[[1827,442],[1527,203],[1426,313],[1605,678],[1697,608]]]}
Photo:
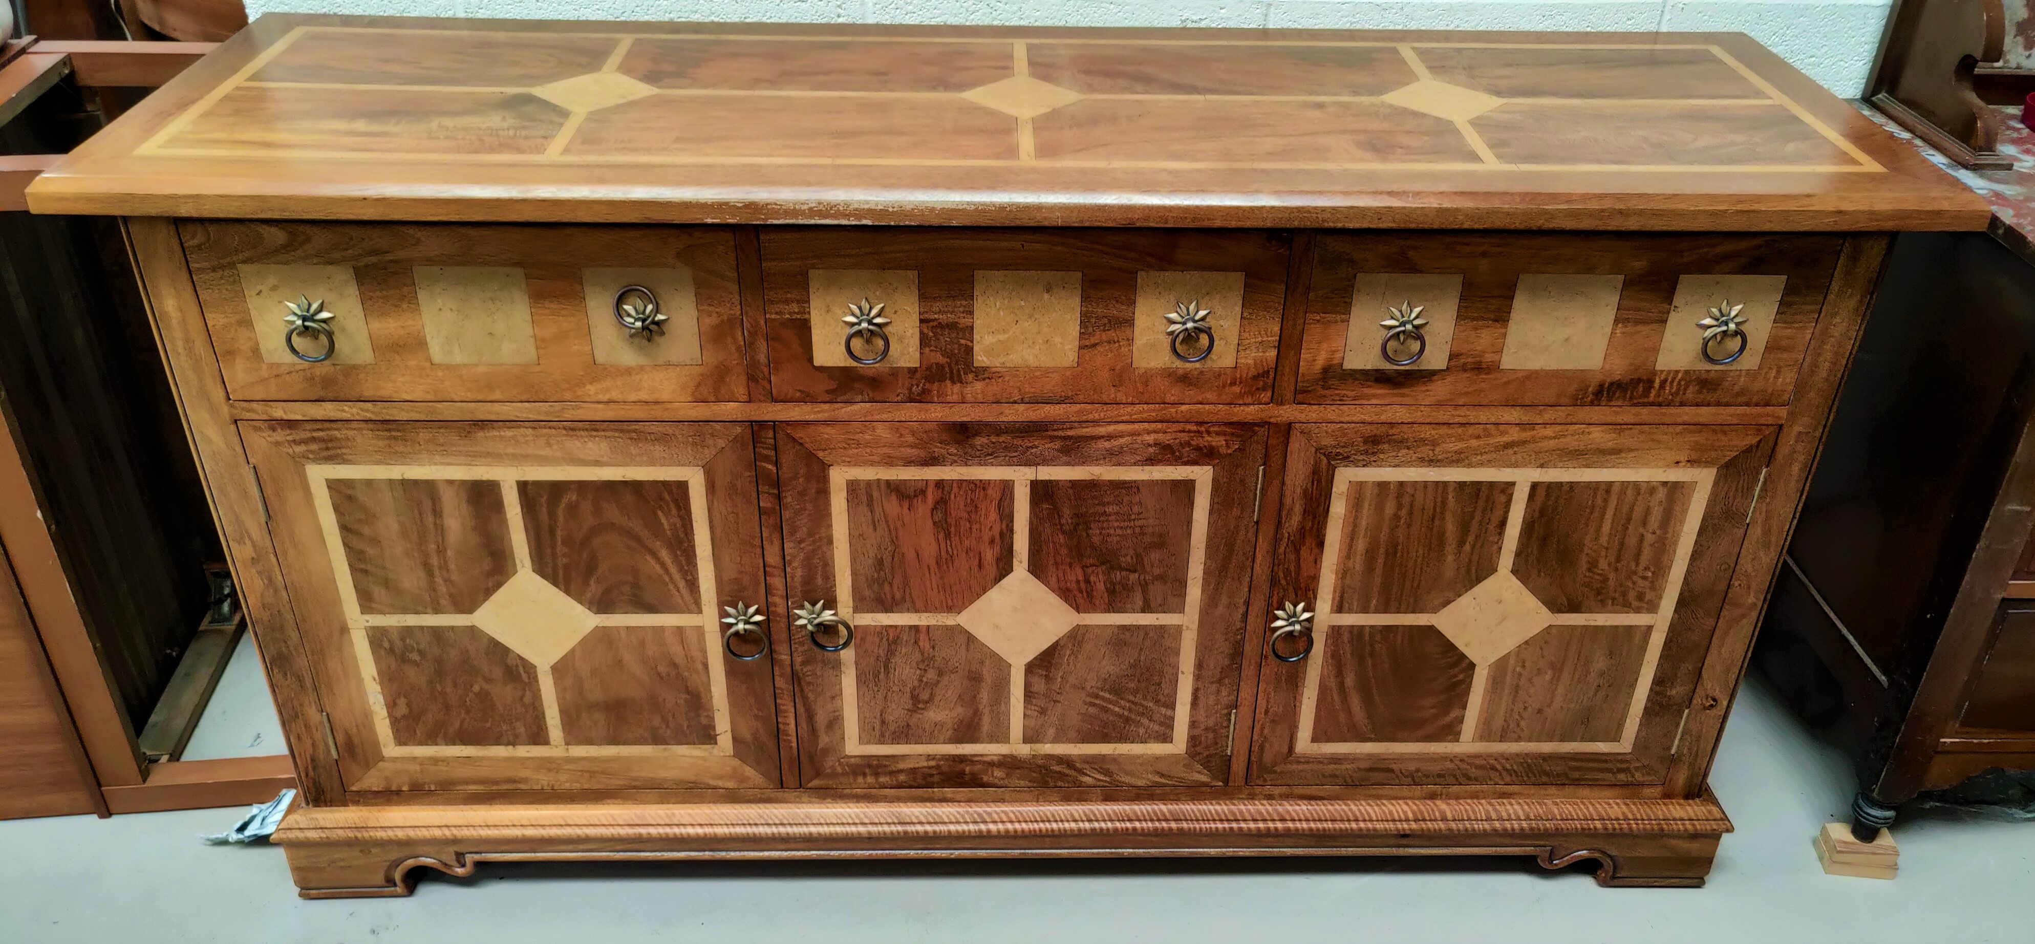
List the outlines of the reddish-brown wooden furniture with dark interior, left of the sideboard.
{"label": "reddish-brown wooden furniture with dark interior, left of the sideboard", "polygon": [[[118,222],[31,216],[22,187],[94,132],[92,92],[210,45],[31,43],[0,69],[0,816],[232,806],[285,757],[179,761],[238,623]],[[18,610],[16,610],[18,606]]]}

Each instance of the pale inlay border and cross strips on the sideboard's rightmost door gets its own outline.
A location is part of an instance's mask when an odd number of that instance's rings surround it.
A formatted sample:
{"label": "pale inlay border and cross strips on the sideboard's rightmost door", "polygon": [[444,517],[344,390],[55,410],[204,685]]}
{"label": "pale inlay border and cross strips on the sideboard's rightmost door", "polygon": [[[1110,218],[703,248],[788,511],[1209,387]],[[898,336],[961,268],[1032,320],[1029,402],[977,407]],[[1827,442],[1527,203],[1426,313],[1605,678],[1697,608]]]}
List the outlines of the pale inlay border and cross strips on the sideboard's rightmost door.
{"label": "pale inlay border and cross strips on the sideboard's rightmost door", "polygon": [[1300,690],[1300,718],[1294,730],[1294,753],[1392,755],[1632,751],[1632,743],[1638,739],[1640,730],[1640,716],[1646,712],[1646,696],[1652,690],[1652,677],[1661,665],[1661,647],[1667,643],[1667,631],[1675,621],[1675,604],[1681,596],[1683,578],[1689,572],[1689,557],[1695,553],[1695,539],[1701,531],[1703,511],[1709,507],[1709,490],[1716,476],[1716,470],[1709,468],[1337,468],[1335,484],[1329,494],[1329,523],[1323,533],[1321,582],[1315,590],[1317,635],[1339,631],[1347,633],[1353,627],[1435,625],[1433,612],[1335,612],[1333,600],[1341,574],[1341,535],[1345,517],[1349,515],[1351,482],[1514,482],[1512,505],[1506,513],[1506,533],[1494,574],[1506,574],[1512,570],[1518,553],[1520,531],[1526,523],[1526,494],[1534,482],[1691,482],[1693,490],[1683,515],[1681,533],[1675,539],[1675,555],[1669,562],[1661,604],[1654,612],[1553,612],[1549,621],[1549,627],[1652,627],[1618,741],[1475,741],[1477,720],[1484,714],[1488,690],[1488,663],[1477,663],[1473,669],[1469,698],[1463,708],[1463,726],[1457,741],[1315,741],[1315,710],[1321,698],[1323,659],[1309,659],[1306,680]]}

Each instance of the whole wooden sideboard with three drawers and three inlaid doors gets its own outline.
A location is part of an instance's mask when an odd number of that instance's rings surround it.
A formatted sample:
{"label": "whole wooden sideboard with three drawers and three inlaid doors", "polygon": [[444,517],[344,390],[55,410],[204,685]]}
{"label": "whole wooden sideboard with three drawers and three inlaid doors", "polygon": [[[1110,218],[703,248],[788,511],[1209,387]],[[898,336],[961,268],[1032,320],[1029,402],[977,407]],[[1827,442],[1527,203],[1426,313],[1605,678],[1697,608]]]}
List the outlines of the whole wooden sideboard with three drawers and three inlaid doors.
{"label": "whole wooden sideboard with three drawers and three inlaid doors", "polygon": [[1701,883],[1886,234],[1986,224],[1738,35],[322,16],[28,199],[126,218],[305,895]]}

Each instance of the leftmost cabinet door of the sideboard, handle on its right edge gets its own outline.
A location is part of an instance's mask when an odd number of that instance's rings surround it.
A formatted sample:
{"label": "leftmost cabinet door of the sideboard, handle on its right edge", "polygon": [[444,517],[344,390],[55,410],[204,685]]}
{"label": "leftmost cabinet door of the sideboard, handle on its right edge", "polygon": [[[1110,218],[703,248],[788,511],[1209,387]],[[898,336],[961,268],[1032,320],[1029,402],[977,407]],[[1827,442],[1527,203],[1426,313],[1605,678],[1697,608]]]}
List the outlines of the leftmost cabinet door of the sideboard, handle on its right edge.
{"label": "leftmost cabinet door of the sideboard, handle on its right edge", "polygon": [[348,789],[765,787],[741,423],[242,423]]}

